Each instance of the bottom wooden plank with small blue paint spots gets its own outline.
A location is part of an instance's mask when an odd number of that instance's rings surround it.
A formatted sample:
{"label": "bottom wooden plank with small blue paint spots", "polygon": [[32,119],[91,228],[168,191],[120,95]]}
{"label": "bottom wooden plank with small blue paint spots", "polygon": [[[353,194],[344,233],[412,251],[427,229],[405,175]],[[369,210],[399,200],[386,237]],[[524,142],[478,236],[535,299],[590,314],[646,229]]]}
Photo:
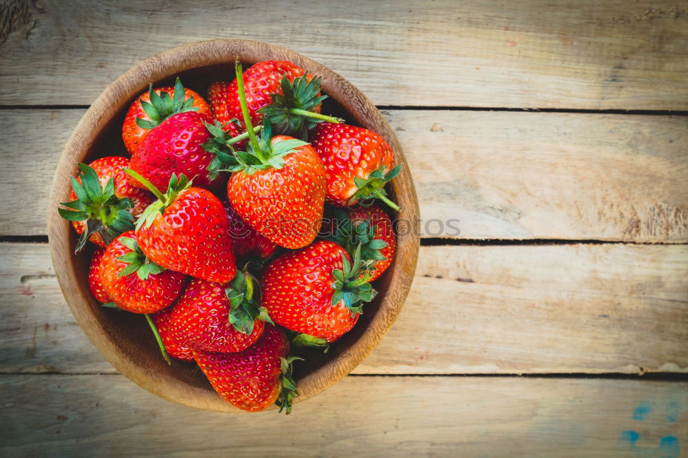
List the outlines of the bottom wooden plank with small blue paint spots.
{"label": "bottom wooden plank with small blue paint spots", "polygon": [[678,458],[688,440],[685,382],[348,377],[290,417],[197,411],[121,375],[0,384],[5,456]]}

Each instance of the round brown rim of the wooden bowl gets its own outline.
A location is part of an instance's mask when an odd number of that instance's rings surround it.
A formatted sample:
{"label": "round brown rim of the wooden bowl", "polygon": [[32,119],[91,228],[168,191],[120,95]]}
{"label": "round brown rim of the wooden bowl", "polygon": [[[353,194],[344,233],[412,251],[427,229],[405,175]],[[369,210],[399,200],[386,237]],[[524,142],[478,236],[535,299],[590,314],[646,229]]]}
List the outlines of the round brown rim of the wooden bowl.
{"label": "round brown rim of the wooden bowl", "polygon": [[[91,149],[96,137],[114,116],[122,110],[127,100],[132,100],[142,92],[142,88],[149,83],[169,78],[189,69],[208,67],[210,65],[226,65],[232,63],[236,56],[245,63],[255,63],[266,60],[292,61],[305,68],[308,72],[321,76],[323,90],[330,98],[346,107],[358,125],[369,127],[374,125],[377,133],[389,142],[395,153],[396,164],[402,164],[402,170],[397,179],[391,182],[393,193],[403,199],[398,218],[410,222],[409,230],[399,234],[397,239],[395,261],[391,265],[389,287],[380,301],[380,307],[367,329],[345,351],[325,362],[298,381],[299,393],[294,402],[302,402],[312,395],[323,391],[345,375],[350,373],[368,354],[378,345],[396,320],[400,309],[407,297],[413,272],[420,249],[418,225],[420,211],[418,198],[413,186],[413,179],[400,144],[391,127],[383,118],[382,113],[358,90],[352,83],[345,80],[332,70],[286,48],[262,43],[259,41],[217,39],[187,43],[156,54],[145,61],[131,67],[127,72],[116,78],[96,98],[84,116],[79,120],[69,136],[56,167],[52,192],[50,195],[50,210],[47,215],[48,242],[50,255],[55,273],[60,284],[65,301],[69,305],[74,318],[85,332],[89,340],[101,354],[127,378],[142,386],[144,389],[186,406],[209,411],[239,412],[228,402],[222,400],[215,391],[190,386],[178,380],[178,383],[167,382],[170,377],[162,377],[149,368],[138,364],[132,356],[115,345],[109,332],[95,318],[91,312],[94,298],[89,291],[80,286],[74,272],[74,254],[71,252],[70,237],[71,224],[59,217],[56,208],[58,203],[66,201],[69,195],[69,180],[65,176],[72,176],[76,171],[76,163],[83,160]],[[346,100],[346,104],[343,100]],[[120,100],[113,103],[112,100]],[[67,256],[65,256],[65,252]]]}

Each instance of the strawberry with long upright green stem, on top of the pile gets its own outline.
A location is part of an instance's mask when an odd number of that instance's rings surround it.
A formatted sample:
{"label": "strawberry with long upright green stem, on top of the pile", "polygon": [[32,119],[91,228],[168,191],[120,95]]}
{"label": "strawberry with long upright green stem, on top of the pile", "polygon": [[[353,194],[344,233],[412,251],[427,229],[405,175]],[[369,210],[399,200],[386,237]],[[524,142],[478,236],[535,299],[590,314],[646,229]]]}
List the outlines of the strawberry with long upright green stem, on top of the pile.
{"label": "strawberry with long upright green stem, on top of the pile", "polygon": [[[240,77],[241,64],[236,67]],[[307,246],[322,223],[323,163],[309,144],[286,135],[272,137],[268,119],[258,139],[248,116],[243,84],[239,84],[239,94],[250,142],[246,152],[226,155],[228,170],[234,172],[227,184],[230,204],[241,219],[270,241],[285,248]]]}

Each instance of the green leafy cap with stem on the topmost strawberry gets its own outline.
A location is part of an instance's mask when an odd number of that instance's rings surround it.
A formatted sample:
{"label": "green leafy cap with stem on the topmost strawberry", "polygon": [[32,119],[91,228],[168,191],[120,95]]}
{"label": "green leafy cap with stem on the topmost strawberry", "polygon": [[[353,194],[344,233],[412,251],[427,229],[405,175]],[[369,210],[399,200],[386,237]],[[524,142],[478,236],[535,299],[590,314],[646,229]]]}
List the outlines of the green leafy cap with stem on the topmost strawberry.
{"label": "green leafy cap with stem on the topmost strawberry", "polygon": [[308,72],[290,81],[282,75],[279,84],[282,94],[270,94],[272,103],[258,110],[275,126],[279,133],[299,135],[306,138],[309,129],[319,122],[327,121],[338,124],[344,122],[341,118],[323,115],[311,111],[320,105],[327,96],[320,96],[320,76],[308,81]]}

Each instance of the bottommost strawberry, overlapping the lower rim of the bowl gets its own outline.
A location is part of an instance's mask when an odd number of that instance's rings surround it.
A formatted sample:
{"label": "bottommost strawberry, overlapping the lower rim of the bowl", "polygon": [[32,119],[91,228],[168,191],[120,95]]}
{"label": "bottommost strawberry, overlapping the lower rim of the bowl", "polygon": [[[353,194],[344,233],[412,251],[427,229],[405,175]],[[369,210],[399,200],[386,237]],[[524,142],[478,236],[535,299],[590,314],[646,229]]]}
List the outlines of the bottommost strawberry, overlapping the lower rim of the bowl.
{"label": "bottommost strawberry, overlapping the lower rim of the bowl", "polygon": [[238,353],[196,351],[194,357],[213,389],[224,400],[249,412],[264,411],[277,400],[279,411],[291,412],[297,397],[291,364],[286,358],[289,342],[281,329],[266,325],[252,347]]}

